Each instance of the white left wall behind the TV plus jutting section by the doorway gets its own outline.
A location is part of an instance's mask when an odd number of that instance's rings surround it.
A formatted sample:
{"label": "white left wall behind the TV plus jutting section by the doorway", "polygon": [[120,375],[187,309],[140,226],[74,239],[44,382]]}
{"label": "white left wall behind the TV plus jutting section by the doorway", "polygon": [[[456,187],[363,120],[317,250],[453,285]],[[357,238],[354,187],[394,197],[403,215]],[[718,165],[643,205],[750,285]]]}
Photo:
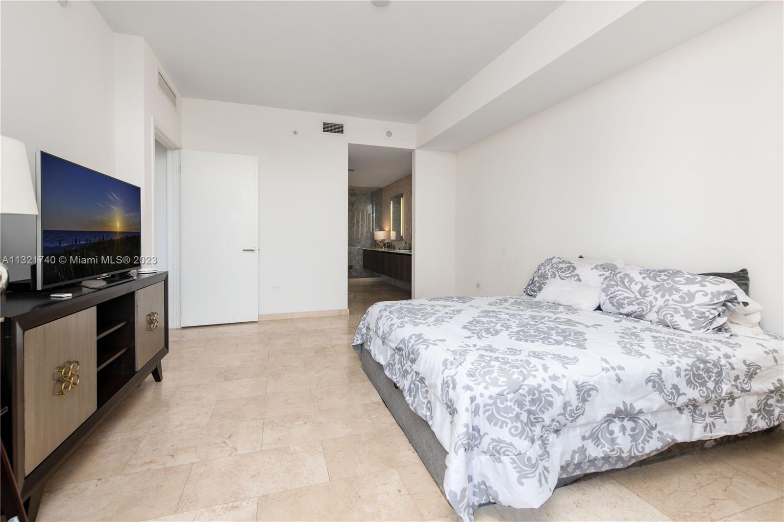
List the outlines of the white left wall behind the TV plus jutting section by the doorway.
{"label": "white left wall behind the TV plus jutting section by the doorway", "polygon": [[[142,188],[142,253],[154,253],[153,124],[180,140],[158,91],[160,64],[139,36],[114,34],[92,2],[2,2],[0,132]],[[172,85],[173,89],[176,87]],[[5,256],[35,254],[35,219],[2,216]],[[10,266],[13,279],[30,277]]]}

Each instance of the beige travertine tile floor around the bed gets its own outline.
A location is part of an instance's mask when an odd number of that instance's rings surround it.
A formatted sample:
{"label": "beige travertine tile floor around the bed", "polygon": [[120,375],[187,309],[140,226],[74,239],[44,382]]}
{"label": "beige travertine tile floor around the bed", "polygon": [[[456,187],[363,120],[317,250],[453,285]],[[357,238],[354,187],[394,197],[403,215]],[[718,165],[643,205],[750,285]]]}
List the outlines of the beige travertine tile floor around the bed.
{"label": "beige travertine tile floor around the bed", "polygon": [[[49,483],[39,520],[456,520],[349,343],[351,314],[170,333],[149,378]],[[784,520],[784,433],[605,473],[477,520]]]}

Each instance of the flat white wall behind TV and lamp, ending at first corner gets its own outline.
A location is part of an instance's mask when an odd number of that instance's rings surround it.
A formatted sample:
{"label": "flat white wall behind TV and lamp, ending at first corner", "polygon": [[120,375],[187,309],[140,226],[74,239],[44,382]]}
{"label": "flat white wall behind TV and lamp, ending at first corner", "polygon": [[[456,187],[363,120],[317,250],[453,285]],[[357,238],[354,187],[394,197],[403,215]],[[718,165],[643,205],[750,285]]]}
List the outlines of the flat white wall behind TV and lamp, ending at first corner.
{"label": "flat white wall behind TV and lamp, ending at first corner", "polygon": [[[114,174],[113,33],[92,2],[0,2],[0,132]],[[4,256],[35,255],[35,219],[2,216]],[[26,266],[11,265],[12,279]]]}

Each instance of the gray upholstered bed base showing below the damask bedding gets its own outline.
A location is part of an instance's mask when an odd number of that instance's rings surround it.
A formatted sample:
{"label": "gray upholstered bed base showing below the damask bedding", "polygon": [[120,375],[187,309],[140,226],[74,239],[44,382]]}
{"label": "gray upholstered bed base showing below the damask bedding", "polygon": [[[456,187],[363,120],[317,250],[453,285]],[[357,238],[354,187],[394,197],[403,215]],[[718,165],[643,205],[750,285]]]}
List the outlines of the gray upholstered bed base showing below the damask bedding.
{"label": "gray upholstered bed base showing below the damask bedding", "polygon": [[[405,436],[408,437],[411,445],[419,454],[419,459],[422,459],[427,471],[430,472],[433,480],[435,480],[438,487],[441,488],[441,493],[443,493],[444,473],[446,470],[446,450],[441,446],[441,443],[436,438],[433,430],[430,430],[430,426],[427,425],[427,422],[408,407],[401,390],[397,389],[394,382],[384,373],[383,366],[373,359],[370,353],[365,350],[364,346],[362,347],[361,361],[362,369],[365,370],[368,379],[373,383],[373,386],[376,386],[376,390],[379,392],[384,404],[387,405],[387,408],[397,421],[397,424],[400,425],[401,430],[403,430],[403,433],[405,433]],[[711,440],[695,440],[693,442],[673,444],[670,448],[666,448],[666,450],[656,453],[655,455],[650,455],[645,459],[641,459],[632,466],[640,466],[642,464],[650,464],[652,462],[671,459],[677,455],[684,455],[685,453],[694,453],[696,451],[712,448],[717,444],[725,444],[741,438],[764,435],[776,429],[777,427],[773,427],[756,433],[742,433],[740,435],[728,435],[726,437]],[[601,472],[580,473],[571,477],[561,477],[557,481],[556,488],[572,484],[575,480],[593,477],[598,473]]]}

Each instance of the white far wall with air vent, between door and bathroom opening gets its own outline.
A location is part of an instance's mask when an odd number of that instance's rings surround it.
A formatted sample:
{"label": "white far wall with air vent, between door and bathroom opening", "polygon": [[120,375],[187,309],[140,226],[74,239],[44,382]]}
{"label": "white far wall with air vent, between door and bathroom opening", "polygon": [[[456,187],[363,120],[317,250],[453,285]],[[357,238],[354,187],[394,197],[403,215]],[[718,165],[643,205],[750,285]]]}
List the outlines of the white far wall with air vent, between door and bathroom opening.
{"label": "white far wall with air vent, between door and bathroom opening", "polygon": [[[414,125],[189,98],[182,107],[184,149],[259,157],[260,314],[347,308],[348,143],[413,148]],[[345,122],[346,135],[321,134],[322,120]]]}

